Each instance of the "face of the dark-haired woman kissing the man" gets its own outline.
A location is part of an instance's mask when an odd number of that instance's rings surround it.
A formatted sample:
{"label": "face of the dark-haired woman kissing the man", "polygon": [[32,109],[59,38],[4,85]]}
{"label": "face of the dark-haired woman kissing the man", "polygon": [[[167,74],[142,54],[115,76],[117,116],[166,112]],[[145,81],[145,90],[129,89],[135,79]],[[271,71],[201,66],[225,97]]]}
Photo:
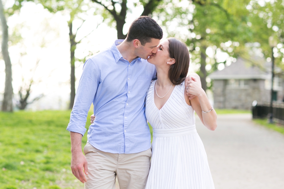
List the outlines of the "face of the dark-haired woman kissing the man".
{"label": "face of the dark-haired woman kissing the man", "polygon": [[169,55],[169,41],[165,40],[158,46],[157,52],[149,56],[147,61],[154,65],[165,65],[171,59]]}

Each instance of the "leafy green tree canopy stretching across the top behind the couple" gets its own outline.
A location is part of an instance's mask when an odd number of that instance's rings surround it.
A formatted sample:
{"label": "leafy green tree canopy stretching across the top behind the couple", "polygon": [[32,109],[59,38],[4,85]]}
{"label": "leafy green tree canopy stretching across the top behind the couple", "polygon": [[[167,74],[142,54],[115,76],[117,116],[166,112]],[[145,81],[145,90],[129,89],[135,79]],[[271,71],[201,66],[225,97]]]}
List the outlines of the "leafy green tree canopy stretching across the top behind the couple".
{"label": "leafy green tree canopy stretching across the top behind the couple", "polygon": [[[4,10],[7,15],[19,12],[26,1],[16,0]],[[165,36],[183,40],[190,51],[190,63],[201,77],[203,89],[212,86],[207,78],[212,71],[229,66],[237,57],[249,59],[251,52],[267,58],[275,57],[276,65],[284,69],[284,3],[268,0],[37,0],[49,12],[68,14],[71,63],[70,108],[75,97],[77,37],[88,15],[98,15],[96,23],[115,27],[117,37],[124,39],[123,27],[128,15],[139,12],[149,15],[161,25]],[[137,13],[136,13],[137,14]],[[74,21],[82,25],[74,27]],[[272,36],[277,44],[269,45]]]}

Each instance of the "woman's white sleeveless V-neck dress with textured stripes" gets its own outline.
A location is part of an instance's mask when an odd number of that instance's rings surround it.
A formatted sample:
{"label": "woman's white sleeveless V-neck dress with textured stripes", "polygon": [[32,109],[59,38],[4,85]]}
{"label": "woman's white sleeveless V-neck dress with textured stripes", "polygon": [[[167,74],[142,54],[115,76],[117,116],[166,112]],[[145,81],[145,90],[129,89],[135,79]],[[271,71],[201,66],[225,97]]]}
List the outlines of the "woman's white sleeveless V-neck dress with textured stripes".
{"label": "woman's white sleeveless V-neck dress with textured stripes", "polygon": [[174,87],[160,110],[154,103],[155,82],[146,95],[146,118],[153,127],[146,189],[213,189],[207,155],[195,129],[194,110],[185,102],[184,82]]}

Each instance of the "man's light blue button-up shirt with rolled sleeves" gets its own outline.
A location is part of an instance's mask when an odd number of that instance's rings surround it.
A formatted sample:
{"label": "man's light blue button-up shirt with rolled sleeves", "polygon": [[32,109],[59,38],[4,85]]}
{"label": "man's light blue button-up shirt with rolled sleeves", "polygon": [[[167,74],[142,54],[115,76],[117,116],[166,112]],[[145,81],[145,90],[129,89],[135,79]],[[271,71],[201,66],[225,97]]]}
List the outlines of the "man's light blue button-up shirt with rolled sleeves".
{"label": "man's light blue button-up shirt with rolled sleeves", "polygon": [[122,41],[85,62],[67,130],[84,135],[93,103],[88,142],[104,152],[129,154],[151,146],[145,96],[156,69],[141,58],[123,59],[116,47]]}

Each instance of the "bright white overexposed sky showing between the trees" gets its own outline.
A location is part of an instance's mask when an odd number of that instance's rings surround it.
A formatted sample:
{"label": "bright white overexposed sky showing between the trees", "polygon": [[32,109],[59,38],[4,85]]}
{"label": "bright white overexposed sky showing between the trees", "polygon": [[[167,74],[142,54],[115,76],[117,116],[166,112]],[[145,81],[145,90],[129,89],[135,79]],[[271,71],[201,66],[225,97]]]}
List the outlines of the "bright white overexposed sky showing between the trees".
{"label": "bright white overexposed sky showing between the trees", "polygon": [[[4,8],[9,10],[15,2],[8,0],[3,1],[3,3]],[[46,1],[46,3],[48,3],[48,1]],[[133,3],[136,3],[136,6]],[[260,6],[265,5],[265,1],[257,1],[257,3]],[[19,3],[16,2],[15,4],[18,5]],[[81,5],[79,14],[72,22],[73,33],[76,33],[77,29],[81,26],[77,32],[76,41],[82,39],[81,43],[77,44],[75,50],[76,89],[82,72],[82,60],[109,47],[114,40],[117,39],[116,23],[112,21],[109,15],[105,16],[106,18],[103,20],[103,16],[100,14],[104,11],[103,7],[88,0],[83,1],[82,4],[84,5]],[[45,9],[39,1],[23,1],[21,5],[20,10],[16,10],[14,14],[7,18],[10,34],[8,44],[12,62],[12,85],[15,94],[14,103],[18,100],[17,94],[20,86],[28,85],[30,79],[33,79],[34,83],[31,86],[31,94],[28,101],[32,101],[40,95],[43,95],[43,97],[32,104],[28,104],[26,109],[67,109],[70,102],[70,40],[68,35],[70,10],[65,9],[51,13],[48,9]],[[139,3],[139,1],[128,1],[127,5],[128,12],[125,19],[126,23],[123,26],[123,34],[127,34],[130,23],[143,12],[143,5]],[[72,6],[76,8],[75,1],[72,1]],[[207,42],[206,47],[207,57],[205,66],[208,73],[214,71],[212,66],[222,70],[225,66],[230,66],[232,62],[236,62],[237,56],[236,52],[234,54],[234,51],[239,51],[237,47],[239,47],[240,43],[243,44],[243,41],[232,41],[232,39],[238,39],[238,36],[236,34],[230,34],[231,40],[224,41],[222,39],[213,39],[212,43],[210,36],[214,38],[214,31],[218,31],[222,28],[219,26],[219,28],[211,27],[210,29],[210,24],[199,23],[203,20],[194,19],[194,14],[196,14],[198,8],[196,8],[196,5],[194,5],[192,1],[164,1],[164,3],[158,5],[157,8],[158,10],[153,12],[152,17],[163,28],[163,38],[175,36],[183,41],[187,41],[189,50],[192,52],[190,73],[200,70],[200,52],[202,50],[200,46],[201,41],[204,41],[204,39],[201,39],[201,35],[207,35],[202,36],[202,38],[205,38],[206,41],[209,42],[209,44]],[[208,10],[203,9],[204,15],[206,11],[210,13],[210,7],[208,7]],[[252,9],[250,4],[246,6],[248,17],[250,17],[250,14],[257,12],[257,10]],[[262,14],[265,13],[259,13],[258,18],[260,18]],[[269,14],[270,13],[268,13],[268,15]],[[174,15],[174,17],[171,15]],[[223,15],[219,15],[220,19],[223,19],[222,16]],[[85,20],[84,23],[83,20]],[[268,21],[270,20],[268,19]],[[210,22],[210,20],[205,22]],[[83,25],[81,25],[82,23]],[[208,28],[194,29],[194,27],[198,27],[199,24],[202,24],[202,27],[208,25]],[[247,22],[246,24],[247,26],[245,27],[253,27],[251,22]],[[232,26],[234,27],[234,25]],[[271,27],[269,22],[267,23],[267,27]],[[274,31],[279,30],[277,26],[273,26],[272,29]],[[218,38],[220,38],[220,36],[218,36]],[[190,43],[190,40],[192,40],[192,43]],[[267,56],[267,61],[270,62],[270,55],[265,52],[266,49],[261,49],[260,43],[247,41],[248,43],[243,44],[245,45],[242,47],[243,49],[250,47],[250,51],[256,56]],[[217,44],[218,42],[221,43]],[[278,44],[278,56],[283,56],[282,47],[282,44]],[[246,54],[243,53],[239,55],[245,56]],[[5,64],[2,59],[0,62],[0,93],[2,93],[0,98],[2,99],[5,84]],[[207,93],[213,104],[214,100],[210,87],[211,80],[207,78],[206,81],[210,89],[207,90]],[[17,109],[17,107],[15,107],[15,109]]]}

